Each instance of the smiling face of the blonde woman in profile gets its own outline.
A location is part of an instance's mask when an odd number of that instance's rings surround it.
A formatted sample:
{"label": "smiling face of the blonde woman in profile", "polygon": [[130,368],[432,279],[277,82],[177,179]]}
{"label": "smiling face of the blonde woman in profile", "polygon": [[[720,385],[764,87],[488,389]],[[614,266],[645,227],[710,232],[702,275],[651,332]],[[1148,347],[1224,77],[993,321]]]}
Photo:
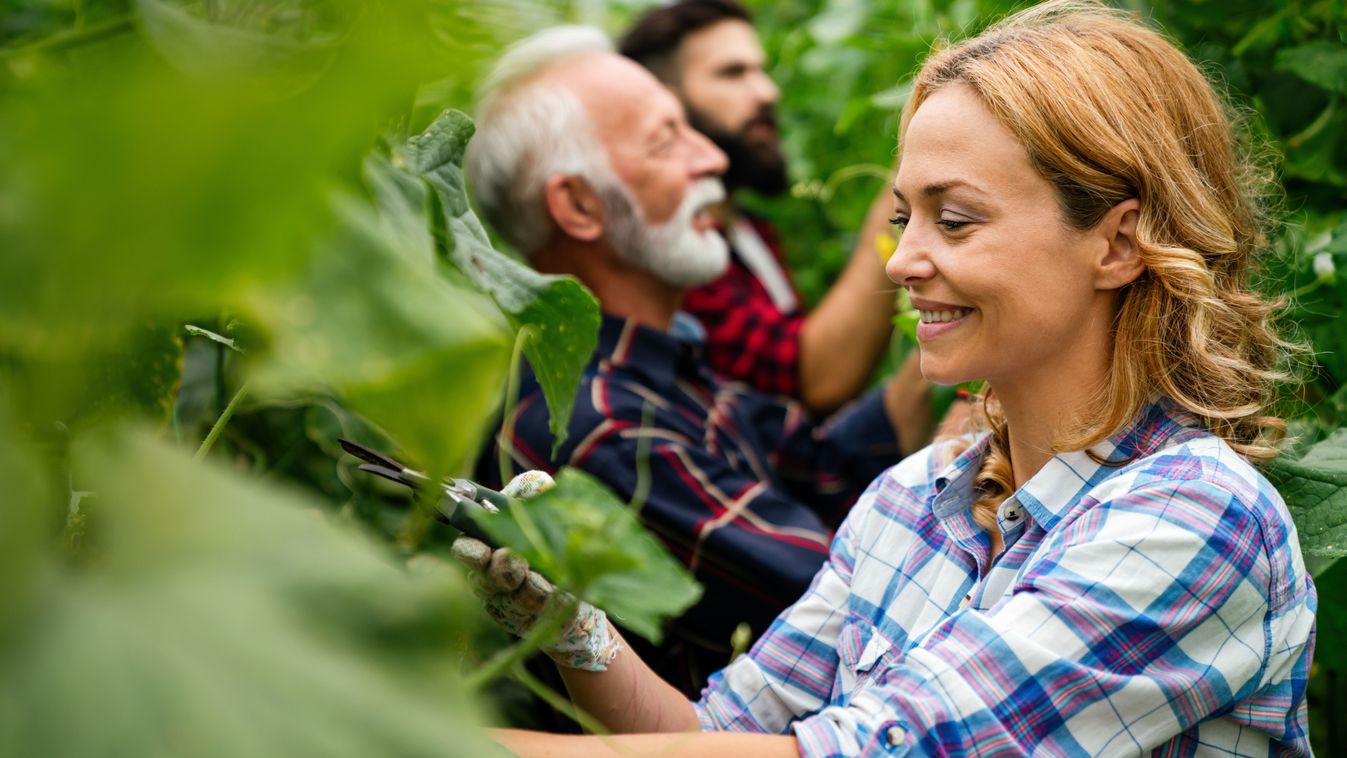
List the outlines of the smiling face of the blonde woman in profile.
{"label": "smiling face of the blonde woman in profile", "polygon": [[886,271],[921,311],[927,378],[989,380],[998,393],[1102,378],[1114,307],[1114,291],[1096,288],[1105,236],[1067,228],[1052,184],[963,83],[921,104],[901,148]]}

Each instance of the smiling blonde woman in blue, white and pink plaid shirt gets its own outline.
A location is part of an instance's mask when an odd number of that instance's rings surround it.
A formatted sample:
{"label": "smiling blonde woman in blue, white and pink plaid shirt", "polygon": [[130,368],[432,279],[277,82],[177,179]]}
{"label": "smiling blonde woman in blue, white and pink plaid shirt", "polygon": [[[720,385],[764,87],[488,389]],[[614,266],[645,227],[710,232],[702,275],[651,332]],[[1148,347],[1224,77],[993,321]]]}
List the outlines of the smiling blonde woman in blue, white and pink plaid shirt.
{"label": "smiling blonde woman in blue, white and pink plaid shirt", "polygon": [[1249,285],[1257,176],[1197,67],[1119,11],[1047,3],[932,55],[888,272],[921,311],[923,372],[986,380],[989,428],[880,477],[700,701],[629,650],[563,669],[614,731],[757,734],[502,739],[1308,754],[1315,588],[1255,467],[1290,349]]}

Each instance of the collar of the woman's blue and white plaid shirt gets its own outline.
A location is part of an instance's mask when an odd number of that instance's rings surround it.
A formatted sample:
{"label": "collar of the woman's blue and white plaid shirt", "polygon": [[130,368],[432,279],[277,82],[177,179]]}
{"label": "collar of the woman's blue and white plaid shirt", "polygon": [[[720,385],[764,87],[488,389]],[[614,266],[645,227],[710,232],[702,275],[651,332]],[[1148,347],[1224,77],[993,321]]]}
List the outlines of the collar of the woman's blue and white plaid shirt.
{"label": "collar of the woman's blue and white plaid shirt", "polygon": [[[1117,474],[1122,466],[1206,434],[1208,432],[1197,416],[1162,397],[1148,404],[1130,424],[1088,451],[1074,450],[1052,456],[1013,497],[1029,510],[1034,521],[1044,529],[1051,529],[1084,493]],[[977,499],[974,483],[990,439],[989,434],[978,435],[936,477],[936,497],[932,504],[936,517],[967,509]]]}

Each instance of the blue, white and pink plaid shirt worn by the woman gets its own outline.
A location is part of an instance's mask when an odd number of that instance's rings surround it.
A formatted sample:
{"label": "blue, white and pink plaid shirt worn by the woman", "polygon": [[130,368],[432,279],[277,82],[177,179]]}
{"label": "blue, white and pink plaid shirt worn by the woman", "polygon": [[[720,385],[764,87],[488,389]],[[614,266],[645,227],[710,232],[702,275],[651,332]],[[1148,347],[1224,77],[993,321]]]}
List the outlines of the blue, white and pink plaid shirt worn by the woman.
{"label": "blue, white and pink plaid shirt worn by the woman", "polygon": [[703,728],[804,755],[1307,755],[1315,588],[1272,485],[1168,401],[970,517],[986,438],[862,495]]}

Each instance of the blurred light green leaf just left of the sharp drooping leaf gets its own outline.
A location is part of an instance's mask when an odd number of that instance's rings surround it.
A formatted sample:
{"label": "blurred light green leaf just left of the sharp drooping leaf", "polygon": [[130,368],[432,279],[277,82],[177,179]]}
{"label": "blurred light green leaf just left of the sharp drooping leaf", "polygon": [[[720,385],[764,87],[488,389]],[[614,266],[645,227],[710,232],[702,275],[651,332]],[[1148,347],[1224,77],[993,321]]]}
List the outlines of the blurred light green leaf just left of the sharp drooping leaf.
{"label": "blurred light green leaf just left of the sharp drooping leaf", "polygon": [[399,252],[364,205],[337,215],[307,277],[253,299],[272,334],[253,381],[268,394],[331,392],[422,466],[459,473],[501,399],[509,330],[488,298]]}

